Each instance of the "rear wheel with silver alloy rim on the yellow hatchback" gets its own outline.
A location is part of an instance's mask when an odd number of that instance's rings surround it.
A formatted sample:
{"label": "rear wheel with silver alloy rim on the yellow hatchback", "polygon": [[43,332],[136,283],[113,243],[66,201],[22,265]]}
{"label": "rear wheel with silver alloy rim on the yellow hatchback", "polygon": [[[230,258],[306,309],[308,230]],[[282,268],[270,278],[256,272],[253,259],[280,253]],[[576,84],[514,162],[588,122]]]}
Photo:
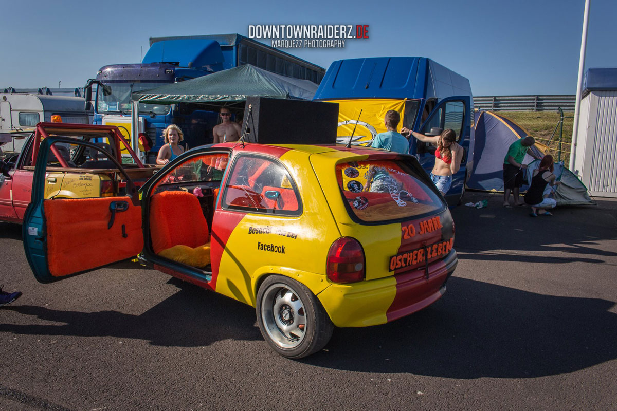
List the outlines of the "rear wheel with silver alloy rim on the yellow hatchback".
{"label": "rear wheel with silver alloy rim on the yellow hatchback", "polygon": [[334,330],[328,314],[309,288],[282,275],[268,277],[259,287],[257,323],[271,348],[292,359],[319,351]]}

